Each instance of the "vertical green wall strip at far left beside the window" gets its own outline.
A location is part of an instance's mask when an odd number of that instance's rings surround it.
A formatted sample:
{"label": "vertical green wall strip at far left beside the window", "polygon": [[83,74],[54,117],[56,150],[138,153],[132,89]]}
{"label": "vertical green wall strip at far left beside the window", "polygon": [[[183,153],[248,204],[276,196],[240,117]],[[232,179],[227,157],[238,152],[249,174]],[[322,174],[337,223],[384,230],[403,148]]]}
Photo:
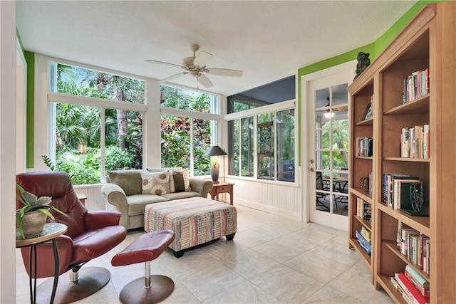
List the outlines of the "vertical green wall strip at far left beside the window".
{"label": "vertical green wall strip at far left beside the window", "polygon": [[27,63],[26,167],[35,167],[35,53],[24,51]]}

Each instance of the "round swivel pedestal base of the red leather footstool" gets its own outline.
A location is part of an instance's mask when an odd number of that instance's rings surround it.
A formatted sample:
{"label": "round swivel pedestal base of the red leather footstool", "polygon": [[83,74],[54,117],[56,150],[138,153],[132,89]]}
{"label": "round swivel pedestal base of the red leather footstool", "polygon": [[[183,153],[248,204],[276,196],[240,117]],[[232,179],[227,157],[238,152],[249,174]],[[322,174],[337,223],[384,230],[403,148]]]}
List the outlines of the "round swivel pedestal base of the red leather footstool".
{"label": "round swivel pedestal base of the red leather footstool", "polygon": [[150,276],[150,261],[145,262],[145,276],[131,281],[120,291],[124,304],[158,303],[174,290],[174,282],[167,276]]}

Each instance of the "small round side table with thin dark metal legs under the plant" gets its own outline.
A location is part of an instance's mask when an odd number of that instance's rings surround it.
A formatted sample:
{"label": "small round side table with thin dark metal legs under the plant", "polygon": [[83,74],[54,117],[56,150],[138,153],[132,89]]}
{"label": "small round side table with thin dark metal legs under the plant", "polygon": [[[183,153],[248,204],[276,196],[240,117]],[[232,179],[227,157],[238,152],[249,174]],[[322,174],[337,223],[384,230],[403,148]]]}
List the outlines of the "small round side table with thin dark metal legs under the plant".
{"label": "small round side table with thin dark metal legs under the plant", "polygon": [[[39,243],[44,243],[46,241],[52,240],[53,246],[53,253],[54,253],[54,284],[52,288],[52,295],[51,295],[51,303],[54,301],[54,297],[56,296],[57,290],[57,283],[58,283],[58,269],[59,269],[59,260],[58,260],[58,251],[57,251],[57,236],[61,236],[66,232],[68,227],[64,224],[58,223],[49,223],[44,226],[43,231],[39,234],[34,234],[33,236],[29,237],[28,239],[22,239],[22,236],[19,232],[19,229],[16,229],[16,248],[30,246],[30,258],[28,268],[30,271],[34,269],[33,278],[34,284],[32,288],[32,276],[30,276],[29,284],[30,284],[30,302],[36,302],[36,245]],[[34,253],[34,259],[32,258]],[[34,260],[34,266],[32,268],[31,263]],[[30,273],[31,274],[31,273]]]}

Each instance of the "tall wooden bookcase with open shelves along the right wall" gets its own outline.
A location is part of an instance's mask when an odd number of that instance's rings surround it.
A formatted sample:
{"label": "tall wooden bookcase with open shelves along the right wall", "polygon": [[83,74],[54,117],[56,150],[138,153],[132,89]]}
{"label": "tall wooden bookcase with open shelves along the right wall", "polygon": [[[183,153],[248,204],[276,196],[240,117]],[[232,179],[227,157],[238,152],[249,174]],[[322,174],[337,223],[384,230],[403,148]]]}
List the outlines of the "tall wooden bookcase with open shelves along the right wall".
{"label": "tall wooden bookcase with open shelves along the right wall", "polygon": [[[348,87],[351,95],[349,247],[360,253],[375,288],[383,288],[395,303],[406,303],[390,281],[412,266],[430,281],[430,303],[456,303],[456,2],[425,6],[398,37]],[[429,68],[429,93],[403,103],[405,78]],[[368,103],[373,117],[363,120]],[[430,126],[430,157],[401,157],[402,128]],[[356,137],[372,137],[372,157],[357,156]],[[371,194],[360,179],[372,174]],[[425,211],[411,216],[383,203],[383,174],[399,172],[423,182]],[[357,200],[371,204],[373,219],[357,215]],[[430,238],[430,274],[400,253],[398,224]],[[372,233],[369,256],[359,246],[356,230]]]}

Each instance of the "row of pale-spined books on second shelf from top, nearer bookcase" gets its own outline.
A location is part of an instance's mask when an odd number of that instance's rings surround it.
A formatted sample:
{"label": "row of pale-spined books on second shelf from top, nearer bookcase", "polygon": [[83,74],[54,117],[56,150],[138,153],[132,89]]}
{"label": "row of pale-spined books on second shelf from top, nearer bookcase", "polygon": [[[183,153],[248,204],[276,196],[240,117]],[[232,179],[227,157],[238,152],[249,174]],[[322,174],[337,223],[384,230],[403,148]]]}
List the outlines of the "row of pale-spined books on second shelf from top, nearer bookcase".
{"label": "row of pale-spined books on second shelf from top, nearer bookcase", "polygon": [[400,157],[429,158],[429,125],[402,128]]}

